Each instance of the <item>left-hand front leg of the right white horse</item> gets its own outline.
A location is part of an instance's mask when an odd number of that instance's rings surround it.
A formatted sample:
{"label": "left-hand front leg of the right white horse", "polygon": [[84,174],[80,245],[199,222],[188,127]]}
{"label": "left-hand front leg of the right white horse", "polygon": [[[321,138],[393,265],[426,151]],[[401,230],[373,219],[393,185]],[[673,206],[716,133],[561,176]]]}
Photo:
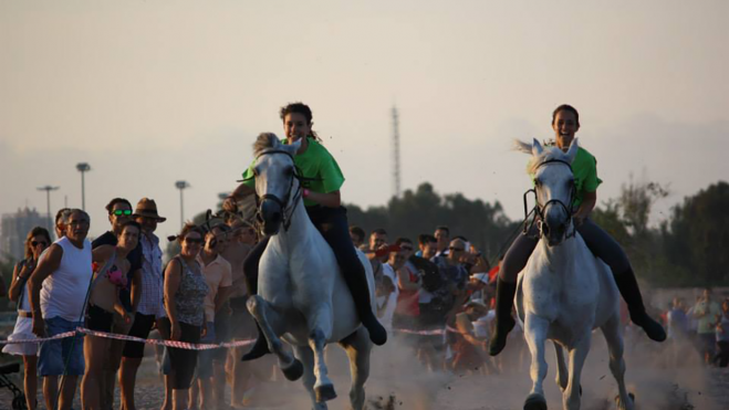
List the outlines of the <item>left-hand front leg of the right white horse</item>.
{"label": "left-hand front leg of the right white horse", "polygon": [[524,410],[546,410],[543,382],[546,377],[546,359],[544,357],[544,341],[550,323],[548,319],[528,313],[524,323],[524,337],[532,354],[530,375],[532,378],[532,391],[527,397]]}

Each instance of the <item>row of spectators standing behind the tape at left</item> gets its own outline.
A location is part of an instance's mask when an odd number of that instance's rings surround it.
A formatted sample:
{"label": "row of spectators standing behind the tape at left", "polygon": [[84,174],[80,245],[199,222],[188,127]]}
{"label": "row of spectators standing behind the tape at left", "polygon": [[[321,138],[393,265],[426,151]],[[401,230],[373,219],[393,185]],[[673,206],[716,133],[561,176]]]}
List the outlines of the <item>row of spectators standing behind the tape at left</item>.
{"label": "row of spectators standing behind the tape at left", "polygon": [[[163,263],[155,234],[165,218],[154,200],[133,209],[123,198],[106,206],[110,230],[91,242],[91,219],[80,209],[55,218],[58,240],[32,229],[24,259],[13,271],[8,295],[18,319],[10,340],[52,337],[77,327],[149,338],[219,344],[250,339],[256,325],[244,307],[242,262],[258,241],[256,229],[236,215],[217,223],[187,223],[178,235],[180,251]],[[3,292],[4,293],[4,292]],[[246,348],[197,350],[167,348],[160,366],[165,380],[163,410],[243,407],[256,382],[240,358]],[[122,408],[135,410],[137,371],[145,344],[76,333],[44,343],[6,345],[22,356],[27,407],[38,408],[38,377],[46,409],[71,409],[81,386],[83,409],[113,409],[118,379]],[[225,402],[230,369],[231,401]],[[79,383],[79,379],[81,382]]]}

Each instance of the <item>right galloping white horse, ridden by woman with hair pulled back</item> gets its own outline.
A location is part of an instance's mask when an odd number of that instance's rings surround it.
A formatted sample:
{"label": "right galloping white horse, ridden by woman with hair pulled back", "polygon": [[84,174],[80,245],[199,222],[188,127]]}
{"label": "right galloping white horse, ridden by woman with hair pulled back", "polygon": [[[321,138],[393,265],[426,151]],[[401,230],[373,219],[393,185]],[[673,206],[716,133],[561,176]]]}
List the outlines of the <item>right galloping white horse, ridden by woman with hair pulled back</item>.
{"label": "right galloping white horse, ridden by woman with hair pulled back", "polygon": [[[571,164],[577,154],[574,139],[566,154],[518,141],[518,149],[532,155],[537,214],[541,240],[519,276],[515,306],[524,323],[524,337],[532,355],[532,390],[524,410],[544,410],[542,381],[546,377],[544,341],[556,350],[556,383],[565,410],[580,409],[580,375],[592,330],[601,328],[610,350],[610,369],[617,381],[621,410],[633,409],[633,398],[623,376],[623,336],[619,330],[618,292],[610,267],[595,257],[574,230]],[[564,349],[570,355],[565,364]]]}

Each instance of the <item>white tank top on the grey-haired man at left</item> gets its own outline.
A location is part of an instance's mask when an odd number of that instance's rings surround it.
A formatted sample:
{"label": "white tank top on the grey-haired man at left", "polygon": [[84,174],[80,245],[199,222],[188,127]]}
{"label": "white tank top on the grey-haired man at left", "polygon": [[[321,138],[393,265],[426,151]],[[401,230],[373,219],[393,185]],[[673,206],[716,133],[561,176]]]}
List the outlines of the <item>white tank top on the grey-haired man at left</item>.
{"label": "white tank top on the grey-haired man at left", "polygon": [[83,249],[74,246],[65,236],[53,243],[63,249],[63,257],[58,271],[43,281],[43,318],[59,316],[70,322],[83,322],[84,301],[92,276],[91,242],[84,240]]}

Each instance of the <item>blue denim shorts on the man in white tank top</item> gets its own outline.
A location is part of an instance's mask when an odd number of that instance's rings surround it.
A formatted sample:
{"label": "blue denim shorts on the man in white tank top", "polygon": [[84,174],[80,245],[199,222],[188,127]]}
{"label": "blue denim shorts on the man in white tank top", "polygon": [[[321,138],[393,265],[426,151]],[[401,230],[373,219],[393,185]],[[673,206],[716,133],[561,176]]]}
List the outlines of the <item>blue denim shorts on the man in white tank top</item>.
{"label": "blue denim shorts on the man in white tank top", "polygon": [[[59,316],[51,317],[50,319],[45,319],[45,333],[49,337],[55,336],[61,333],[75,330],[76,327],[83,325],[83,322],[71,322]],[[41,351],[38,358],[38,372],[40,376],[82,376],[84,368],[83,334],[41,344]]]}

